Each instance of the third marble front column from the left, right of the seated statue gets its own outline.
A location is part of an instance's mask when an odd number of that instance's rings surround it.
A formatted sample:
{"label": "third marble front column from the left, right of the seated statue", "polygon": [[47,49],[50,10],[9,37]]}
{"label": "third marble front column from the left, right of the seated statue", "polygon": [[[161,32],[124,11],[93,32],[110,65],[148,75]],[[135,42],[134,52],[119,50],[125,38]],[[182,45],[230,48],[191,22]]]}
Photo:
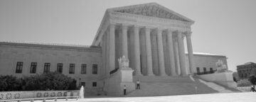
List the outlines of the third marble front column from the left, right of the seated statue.
{"label": "third marble front column from the left, right of the seated statue", "polygon": [[141,72],[141,60],[139,53],[139,27],[134,26],[134,65],[135,65],[135,75],[142,76]]}

